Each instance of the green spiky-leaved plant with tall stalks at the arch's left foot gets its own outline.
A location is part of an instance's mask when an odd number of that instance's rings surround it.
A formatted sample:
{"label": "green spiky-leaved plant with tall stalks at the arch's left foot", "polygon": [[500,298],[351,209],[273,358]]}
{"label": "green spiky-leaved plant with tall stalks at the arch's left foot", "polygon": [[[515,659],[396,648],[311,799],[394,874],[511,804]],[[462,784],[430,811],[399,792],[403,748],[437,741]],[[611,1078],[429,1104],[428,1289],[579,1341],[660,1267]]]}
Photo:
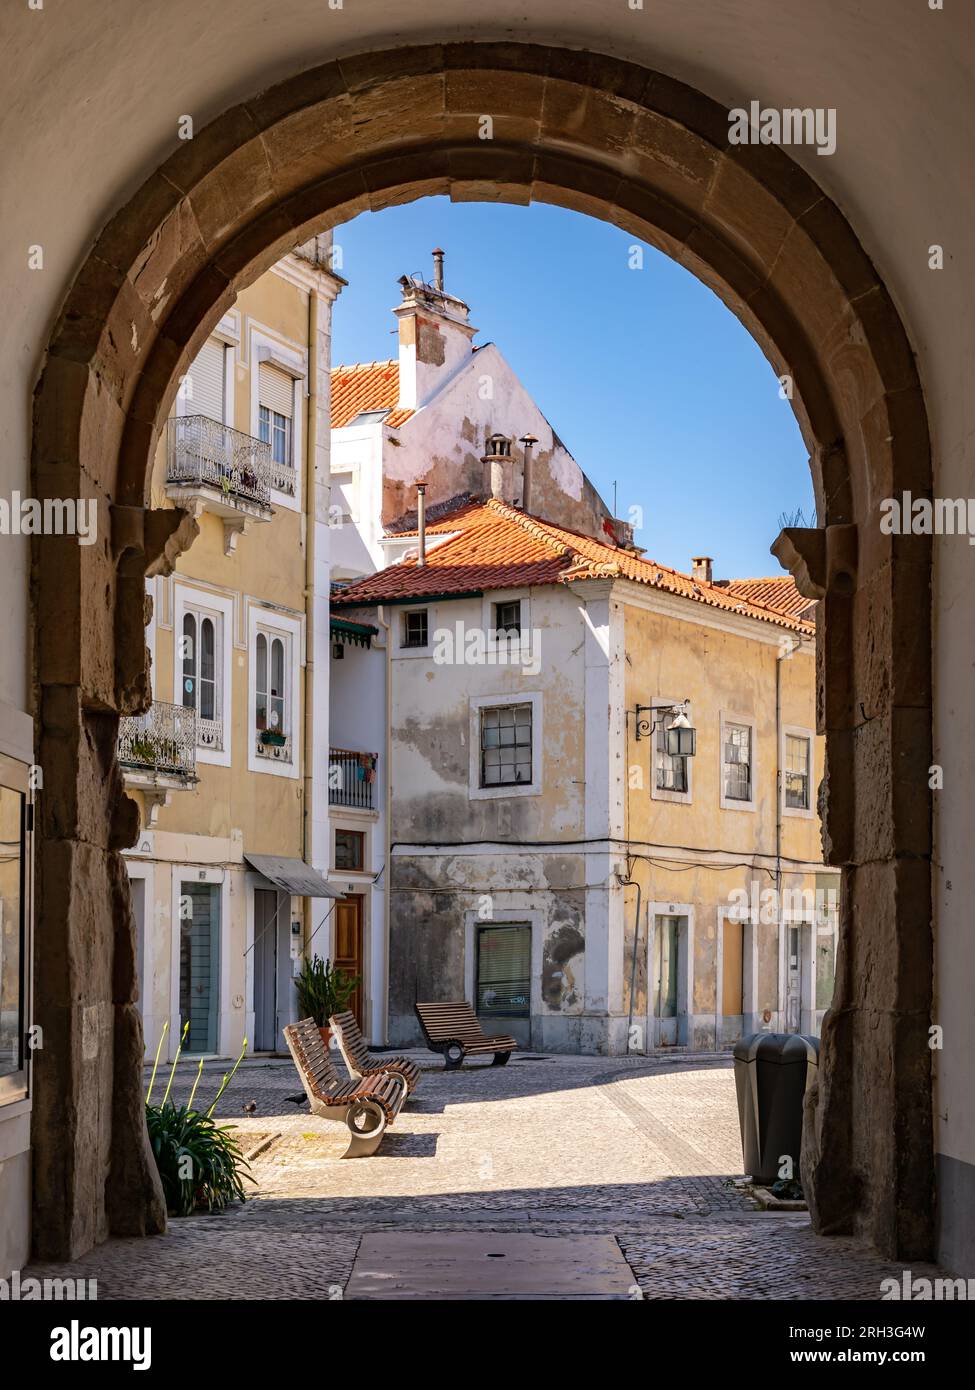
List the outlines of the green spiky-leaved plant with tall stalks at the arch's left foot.
{"label": "green spiky-leaved plant with tall stalks at the arch's left foot", "polygon": [[172,1077],[177,1062],[186,1041],[186,1029],[179,1038],[179,1047],[170,1072],[170,1081],[166,1094],[159,1105],[152,1105],[153,1086],[156,1084],[156,1069],[159,1054],[166,1037],[159,1041],[156,1049],[156,1063],[146,1094],[146,1127],[149,1143],[156,1158],[159,1176],[163,1182],[166,1205],[171,1216],[189,1216],[195,1211],[220,1212],[234,1201],[246,1201],[245,1182],[255,1179],[248,1168],[248,1162],[241,1152],[236,1138],[235,1125],[217,1125],[213,1112],[217,1101],[229,1086],[243,1054],[248,1049],[248,1040],[243,1040],[241,1055],[234,1068],[224,1073],[220,1090],[210,1108],[203,1113],[193,1109],[196,1087],[203,1072],[203,1059],[196,1068],[196,1080],[185,1105],[177,1105],[170,1099]]}

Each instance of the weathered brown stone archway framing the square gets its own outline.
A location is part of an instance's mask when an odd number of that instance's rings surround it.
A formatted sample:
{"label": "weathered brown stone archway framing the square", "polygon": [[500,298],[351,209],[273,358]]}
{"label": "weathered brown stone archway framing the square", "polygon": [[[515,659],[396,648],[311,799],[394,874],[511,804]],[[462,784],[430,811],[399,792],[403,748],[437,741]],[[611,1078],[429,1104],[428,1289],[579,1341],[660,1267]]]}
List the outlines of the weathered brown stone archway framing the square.
{"label": "weathered brown stone archway framing the square", "polygon": [[794,381],[822,530],[783,534],[779,553],[825,595],[825,838],[844,884],[804,1163],[821,1230],[929,1252],[930,552],[876,524],[879,499],[930,492],[924,400],[841,213],[783,150],[729,146],[727,131],[701,93],[599,54],[369,53],[227,111],[104,228],[35,398],[35,496],[95,498],[111,518],[97,545],[47,537],[33,555],[36,1255],[164,1222],[120,856],[135,808],[114,746],[118,716],[149,701],[145,575],[186,543],[181,513],[146,510],[177,378],[236,291],[313,231],[428,193],[552,202],[633,231],[711,285]]}

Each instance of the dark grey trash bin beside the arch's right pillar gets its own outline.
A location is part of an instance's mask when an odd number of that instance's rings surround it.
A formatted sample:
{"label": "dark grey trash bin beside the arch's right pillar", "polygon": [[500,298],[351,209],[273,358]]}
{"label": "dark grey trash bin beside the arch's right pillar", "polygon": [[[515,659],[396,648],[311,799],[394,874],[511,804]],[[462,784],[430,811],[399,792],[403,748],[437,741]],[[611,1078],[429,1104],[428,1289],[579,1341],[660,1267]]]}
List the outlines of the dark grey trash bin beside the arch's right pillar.
{"label": "dark grey trash bin beside the arch's right pillar", "polygon": [[818,1069],[819,1038],[801,1033],[752,1033],[734,1044],[744,1170],[757,1183],[775,1183],[784,1155],[798,1179],[803,1097]]}

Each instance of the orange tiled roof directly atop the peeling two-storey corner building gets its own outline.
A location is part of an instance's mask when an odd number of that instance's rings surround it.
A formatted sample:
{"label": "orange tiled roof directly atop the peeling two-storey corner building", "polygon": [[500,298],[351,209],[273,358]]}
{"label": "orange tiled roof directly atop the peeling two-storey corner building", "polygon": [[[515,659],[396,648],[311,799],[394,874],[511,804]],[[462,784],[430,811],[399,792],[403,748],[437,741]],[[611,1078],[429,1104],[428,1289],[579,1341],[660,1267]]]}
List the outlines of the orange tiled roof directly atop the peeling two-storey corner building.
{"label": "orange tiled roof directly atop the peeling two-storey corner building", "polygon": [[727,585],[700,584],[688,574],[654,564],[630,550],[526,516],[495,498],[463,503],[440,517],[427,527],[430,541],[438,535],[444,539],[428,545],[423,569],[414,557],[392,564],[332,594],[332,605],[362,607],[440,594],[619,577],[796,632],[815,632],[812,623],[782,606],[758,603],[732,592]]}

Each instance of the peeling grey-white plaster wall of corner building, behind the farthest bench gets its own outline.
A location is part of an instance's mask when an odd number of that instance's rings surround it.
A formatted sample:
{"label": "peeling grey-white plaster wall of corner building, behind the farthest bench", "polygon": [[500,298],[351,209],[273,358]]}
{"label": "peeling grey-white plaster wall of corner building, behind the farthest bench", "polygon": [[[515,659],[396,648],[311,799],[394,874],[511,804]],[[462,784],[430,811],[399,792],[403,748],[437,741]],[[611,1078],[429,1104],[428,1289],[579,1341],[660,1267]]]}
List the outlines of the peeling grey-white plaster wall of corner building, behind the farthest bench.
{"label": "peeling grey-white plaster wall of corner building, behind the farthest bench", "polygon": [[[456,631],[458,623],[466,631],[483,628],[490,602],[435,605],[431,634]],[[513,920],[519,912],[537,924],[533,1045],[577,1051],[583,1038],[590,856],[556,847],[586,835],[584,630],[579,603],[563,589],[533,589],[524,605],[537,632],[538,674],[515,666],[438,664],[409,652],[394,659],[394,1044],[419,1037],[417,998],[467,995],[473,922]],[[391,613],[395,632],[401,613]],[[540,795],[472,799],[472,698],[519,702],[526,692],[541,696]],[[449,849],[438,852],[438,845]]]}

